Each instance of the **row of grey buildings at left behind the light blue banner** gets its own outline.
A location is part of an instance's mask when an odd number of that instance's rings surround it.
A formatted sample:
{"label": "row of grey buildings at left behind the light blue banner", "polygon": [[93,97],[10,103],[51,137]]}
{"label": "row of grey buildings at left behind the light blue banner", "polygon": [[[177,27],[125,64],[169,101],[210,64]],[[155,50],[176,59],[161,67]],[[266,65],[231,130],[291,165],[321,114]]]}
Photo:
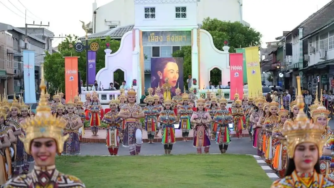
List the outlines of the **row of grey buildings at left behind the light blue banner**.
{"label": "row of grey buildings at left behind the light blue banner", "polygon": [[[6,74],[2,73],[0,81],[0,90],[1,87],[5,88],[7,94],[12,94],[13,91],[15,93],[23,91],[23,54],[22,50],[25,48],[25,28],[13,27],[9,24],[0,23],[0,63],[1,61],[12,62],[8,64],[6,68],[6,64],[4,68],[0,69],[6,70]],[[3,33],[3,34],[2,34]],[[35,51],[35,87],[38,88],[40,81],[40,64],[43,62],[43,57],[45,51],[49,51],[52,53],[52,37],[53,33],[44,28],[28,28],[28,37],[27,37],[27,46],[29,50]],[[5,40],[6,39],[6,40]],[[5,45],[6,43],[6,49]],[[5,52],[5,53],[4,53]],[[7,58],[7,60],[5,60]],[[12,66],[12,68],[11,68]],[[0,70],[1,72],[1,70]],[[1,73],[0,73],[1,75]],[[6,79],[5,79],[6,78]],[[2,83],[5,83],[3,86]],[[2,93],[3,89],[0,91]]]}

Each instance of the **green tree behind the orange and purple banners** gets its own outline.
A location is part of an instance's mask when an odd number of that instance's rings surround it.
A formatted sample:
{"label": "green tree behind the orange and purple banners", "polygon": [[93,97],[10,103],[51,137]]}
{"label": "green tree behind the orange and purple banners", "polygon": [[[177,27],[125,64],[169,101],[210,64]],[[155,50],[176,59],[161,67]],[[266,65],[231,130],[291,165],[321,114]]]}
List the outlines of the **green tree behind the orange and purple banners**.
{"label": "green tree behind the orange and purple banners", "polygon": [[[66,56],[78,56],[78,71],[81,73],[81,79],[83,83],[86,83],[86,51],[76,52],[73,48],[74,44],[78,42],[77,36],[66,36],[65,40],[58,45],[58,52],[49,54],[46,52],[44,58],[44,72],[45,80],[50,83],[49,93],[54,93],[58,88],[59,90],[65,91],[65,62],[64,58]],[[98,42],[100,45],[97,51],[96,59],[96,71],[105,67],[105,52],[106,43],[109,42],[110,49],[112,53],[117,52],[120,47],[120,41],[112,40],[110,37],[106,37],[105,40],[94,39],[89,41],[90,45],[92,42]],[[114,74],[115,81],[123,81],[124,74],[118,73]],[[104,86],[108,87],[108,86]]]}

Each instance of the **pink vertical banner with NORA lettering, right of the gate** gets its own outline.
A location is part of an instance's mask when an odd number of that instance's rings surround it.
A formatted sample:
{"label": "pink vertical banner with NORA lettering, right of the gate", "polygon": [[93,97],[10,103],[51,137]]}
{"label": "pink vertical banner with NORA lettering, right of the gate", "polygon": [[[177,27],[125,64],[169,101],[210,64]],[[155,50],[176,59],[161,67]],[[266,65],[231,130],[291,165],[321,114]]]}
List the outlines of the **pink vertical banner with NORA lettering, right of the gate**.
{"label": "pink vertical banner with NORA lettering, right of the gate", "polygon": [[242,53],[230,53],[230,100],[234,100],[234,94],[239,94],[239,99],[243,95],[243,55]]}

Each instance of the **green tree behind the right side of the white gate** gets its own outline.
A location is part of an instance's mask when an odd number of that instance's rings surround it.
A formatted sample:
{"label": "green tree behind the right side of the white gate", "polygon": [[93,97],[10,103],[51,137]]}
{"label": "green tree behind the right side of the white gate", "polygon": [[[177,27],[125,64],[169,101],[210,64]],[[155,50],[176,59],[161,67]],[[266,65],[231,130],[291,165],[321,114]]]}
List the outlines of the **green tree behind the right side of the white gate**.
{"label": "green tree behind the right side of the white gate", "polygon": [[[218,50],[222,50],[225,45],[225,40],[228,41],[228,45],[230,46],[230,53],[235,53],[236,48],[261,45],[262,34],[253,28],[244,26],[240,22],[227,22],[208,17],[203,20],[201,29],[208,31],[211,34],[213,44]],[[174,52],[172,56],[183,57],[183,77],[184,82],[186,83],[187,76],[191,75],[191,47],[182,46],[182,48],[179,51]],[[213,78],[213,80],[211,80],[213,84],[218,84],[218,81],[220,81],[221,78],[221,72],[213,70],[211,72],[211,77]]]}

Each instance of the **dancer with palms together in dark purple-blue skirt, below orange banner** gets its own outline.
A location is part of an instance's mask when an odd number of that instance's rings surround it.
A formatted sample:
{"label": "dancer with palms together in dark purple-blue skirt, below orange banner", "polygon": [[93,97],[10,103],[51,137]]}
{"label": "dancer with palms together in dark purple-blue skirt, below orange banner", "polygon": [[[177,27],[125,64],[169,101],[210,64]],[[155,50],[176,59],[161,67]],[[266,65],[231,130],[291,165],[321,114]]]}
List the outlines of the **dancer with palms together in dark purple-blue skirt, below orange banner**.
{"label": "dancer with palms together in dark purple-blue skirt, below orange banner", "polygon": [[61,116],[61,119],[66,121],[62,135],[68,137],[61,155],[80,155],[79,128],[82,127],[82,121],[80,116],[74,114],[75,106],[70,98],[66,103],[67,114]]}

